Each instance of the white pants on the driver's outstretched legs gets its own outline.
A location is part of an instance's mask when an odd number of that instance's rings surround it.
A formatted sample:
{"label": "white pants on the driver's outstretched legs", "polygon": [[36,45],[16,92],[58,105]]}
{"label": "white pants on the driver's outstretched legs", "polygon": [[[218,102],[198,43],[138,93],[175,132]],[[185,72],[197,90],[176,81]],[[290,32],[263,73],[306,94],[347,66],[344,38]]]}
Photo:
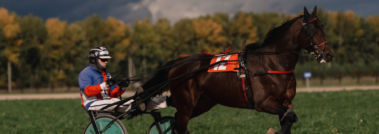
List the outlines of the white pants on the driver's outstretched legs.
{"label": "white pants on the driver's outstretched legs", "polygon": [[[162,109],[162,108],[167,108],[167,103],[166,103],[166,96],[160,96],[160,97],[155,97],[153,98],[149,104],[146,105],[146,111],[152,111],[156,109]],[[88,110],[100,110],[101,108],[107,106],[108,104],[115,103],[117,101],[120,101],[118,98],[112,98],[110,100],[99,100],[95,101],[92,103]],[[127,101],[126,103],[122,104],[118,109],[117,112],[126,112],[130,108],[132,108],[132,102],[134,100]],[[117,105],[111,106],[109,108],[106,108],[104,110],[106,111],[114,111],[114,108],[116,108]]]}

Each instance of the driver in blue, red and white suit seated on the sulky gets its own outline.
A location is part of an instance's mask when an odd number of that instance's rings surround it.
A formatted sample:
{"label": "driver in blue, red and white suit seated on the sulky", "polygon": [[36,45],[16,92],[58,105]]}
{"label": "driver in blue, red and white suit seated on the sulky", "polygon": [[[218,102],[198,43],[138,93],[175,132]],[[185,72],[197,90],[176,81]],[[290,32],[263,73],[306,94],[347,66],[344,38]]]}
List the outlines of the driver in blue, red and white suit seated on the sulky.
{"label": "driver in blue, red and white suit seated on the sulky", "polygon": [[[108,59],[110,58],[109,51],[105,47],[96,46],[89,51],[89,66],[79,73],[78,81],[81,95],[81,106],[83,106],[86,111],[100,110],[108,104],[120,101],[117,97],[119,97],[120,92],[121,94],[124,93],[126,87],[129,85],[129,81],[126,79],[118,80],[120,83],[114,85],[116,79],[111,79],[112,77],[110,73],[106,72],[106,66],[108,64]],[[139,87],[137,93],[142,91],[142,87]],[[167,108],[167,98],[167,96],[153,98],[149,104],[146,105],[147,107],[144,103],[141,103],[137,106],[137,109],[140,111],[151,111]],[[135,100],[130,100],[122,104],[117,111],[126,112],[135,104]],[[104,110],[114,111],[115,107],[116,105]]]}

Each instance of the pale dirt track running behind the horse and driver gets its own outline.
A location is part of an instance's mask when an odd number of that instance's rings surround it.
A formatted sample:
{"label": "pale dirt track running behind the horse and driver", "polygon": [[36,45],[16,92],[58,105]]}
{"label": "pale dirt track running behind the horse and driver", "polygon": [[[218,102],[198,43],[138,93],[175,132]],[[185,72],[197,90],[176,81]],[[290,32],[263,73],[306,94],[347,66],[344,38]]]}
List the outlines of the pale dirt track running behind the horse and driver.
{"label": "pale dirt track running behind the horse and driver", "polygon": [[[302,87],[297,88],[296,92],[323,92],[340,90],[376,90],[379,85],[373,86],[330,86],[330,87]],[[133,92],[125,92],[123,97],[130,97]],[[0,100],[31,100],[31,99],[67,99],[80,98],[79,93],[31,93],[31,94],[0,94]]]}

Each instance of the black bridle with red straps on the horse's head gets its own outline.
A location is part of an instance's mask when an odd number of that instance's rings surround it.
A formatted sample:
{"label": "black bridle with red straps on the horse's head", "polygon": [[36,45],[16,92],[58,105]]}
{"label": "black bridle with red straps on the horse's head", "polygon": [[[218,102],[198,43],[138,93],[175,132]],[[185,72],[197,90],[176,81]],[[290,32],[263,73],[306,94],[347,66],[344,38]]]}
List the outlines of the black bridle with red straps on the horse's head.
{"label": "black bridle with red straps on the horse's head", "polygon": [[[316,56],[316,60],[318,60],[320,58],[323,58],[323,55],[324,55],[324,52],[325,52],[325,48],[328,45],[328,42],[325,41],[325,42],[323,42],[321,44],[316,44],[315,41],[313,41],[313,35],[316,33],[315,32],[315,26],[312,24],[313,22],[317,22],[317,24],[321,27],[321,31],[323,31],[325,39],[326,39],[326,34],[324,32],[324,28],[322,27],[321,22],[318,21],[318,17],[316,17],[313,14],[310,14],[310,16],[312,16],[313,19],[310,20],[310,21],[308,21],[308,22],[306,22],[305,17],[303,17],[303,23],[302,23],[302,25],[303,25],[304,33],[307,36],[307,39],[309,41],[309,45],[312,48],[313,55],[315,55]],[[305,44],[305,39],[304,39],[304,44]],[[317,48],[321,47],[322,45],[325,45],[324,49],[323,49],[323,51],[321,51],[321,53],[319,53],[319,51],[317,51]]]}

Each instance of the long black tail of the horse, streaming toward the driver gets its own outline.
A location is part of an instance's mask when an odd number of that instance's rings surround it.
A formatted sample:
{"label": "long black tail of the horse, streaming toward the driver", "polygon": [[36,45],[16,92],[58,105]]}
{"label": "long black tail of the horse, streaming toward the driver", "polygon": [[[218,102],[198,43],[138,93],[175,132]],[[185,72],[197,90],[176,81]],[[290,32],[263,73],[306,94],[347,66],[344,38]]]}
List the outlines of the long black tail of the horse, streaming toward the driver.
{"label": "long black tail of the horse, streaming toward the driver", "polygon": [[[155,74],[155,76],[152,79],[150,79],[149,81],[147,81],[146,83],[144,83],[141,86],[144,90],[149,90],[149,92],[147,92],[146,95],[144,95],[144,96],[155,97],[157,95],[162,95],[164,92],[169,90],[168,84],[164,84],[164,83],[166,83],[166,81],[168,81],[168,72],[170,71],[171,66],[177,60],[178,59],[174,59],[174,60],[167,62],[166,65],[164,65],[161,68],[161,70],[159,70],[157,72],[157,74]],[[157,90],[158,90],[158,92],[155,92]],[[136,92],[136,94],[137,94],[137,92]],[[126,118],[129,120],[129,119],[132,119],[138,115],[141,115],[141,112],[135,110],[135,111],[130,112]]]}

